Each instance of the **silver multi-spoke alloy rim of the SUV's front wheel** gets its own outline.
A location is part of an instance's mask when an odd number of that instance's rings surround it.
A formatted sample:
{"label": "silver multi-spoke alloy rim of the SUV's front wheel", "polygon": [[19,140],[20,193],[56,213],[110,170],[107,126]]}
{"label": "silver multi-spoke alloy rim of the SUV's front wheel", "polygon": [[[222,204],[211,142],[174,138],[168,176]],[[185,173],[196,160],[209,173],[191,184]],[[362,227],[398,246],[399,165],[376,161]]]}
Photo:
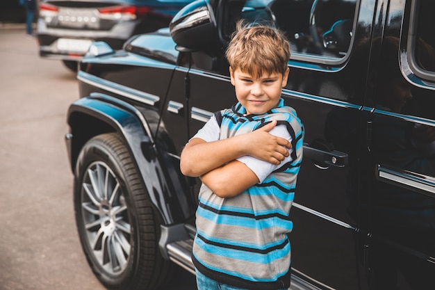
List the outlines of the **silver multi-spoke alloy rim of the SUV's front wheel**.
{"label": "silver multi-spoke alloy rim of the SUV's front wheel", "polygon": [[106,163],[96,161],[85,172],[81,214],[93,258],[106,273],[119,275],[130,258],[131,223],[120,183]]}

